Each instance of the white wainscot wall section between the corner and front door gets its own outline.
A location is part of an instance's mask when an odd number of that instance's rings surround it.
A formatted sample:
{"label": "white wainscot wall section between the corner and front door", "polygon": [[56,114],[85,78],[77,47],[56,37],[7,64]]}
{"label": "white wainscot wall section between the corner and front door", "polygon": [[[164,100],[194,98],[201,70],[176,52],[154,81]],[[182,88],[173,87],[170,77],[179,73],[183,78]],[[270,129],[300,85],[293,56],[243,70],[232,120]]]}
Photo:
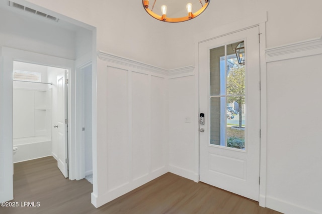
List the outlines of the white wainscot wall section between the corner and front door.
{"label": "white wainscot wall section between the corner and front door", "polygon": [[[169,170],[198,180],[195,159],[195,75],[169,77]],[[187,154],[192,154],[188,156]]]}

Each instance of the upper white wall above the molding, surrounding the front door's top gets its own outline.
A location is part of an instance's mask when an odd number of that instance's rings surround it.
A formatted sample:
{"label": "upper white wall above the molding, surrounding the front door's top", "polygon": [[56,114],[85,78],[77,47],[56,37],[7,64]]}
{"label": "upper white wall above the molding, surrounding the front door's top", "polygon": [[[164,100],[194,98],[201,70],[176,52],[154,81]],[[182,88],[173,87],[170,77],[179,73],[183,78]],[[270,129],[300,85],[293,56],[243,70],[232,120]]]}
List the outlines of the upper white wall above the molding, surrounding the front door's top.
{"label": "upper white wall above the molding, surrounding the front door's top", "polygon": [[[312,7],[314,5],[314,7]],[[180,68],[194,64],[194,42],[196,38],[209,35],[219,28],[240,23],[250,17],[267,12],[266,46],[272,48],[288,43],[321,37],[322,29],[316,28],[322,14],[319,8],[322,2],[311,0],[308,2],[286,1],[257,1],[232,0],[211,1],[207,10],[196,19],[179,25],[168,24],[166,39],[169,51],[164,56],[167,69]],[[297,11],[294,14],[294,11]],[[229,33],[229,32],[227,32]],[[175,51],[177,50],[177,51]]]}

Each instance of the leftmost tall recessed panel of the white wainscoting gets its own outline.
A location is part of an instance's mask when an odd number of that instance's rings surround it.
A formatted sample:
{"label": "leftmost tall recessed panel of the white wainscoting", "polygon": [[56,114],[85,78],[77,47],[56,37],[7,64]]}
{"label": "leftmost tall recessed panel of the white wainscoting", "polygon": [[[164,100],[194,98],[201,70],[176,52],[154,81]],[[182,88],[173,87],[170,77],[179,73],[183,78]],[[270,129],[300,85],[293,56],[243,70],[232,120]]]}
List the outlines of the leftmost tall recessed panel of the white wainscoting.
{"label": "leftmost tall recessed panel of the white wainscoting", "polygon": [[[129,182],[128,71],[107,66],[108,189]],[[98,118],[99,119],[99,118]],[[124,154],[124,156],[122,155]],[[125,155],[126,154],[126,155]]]}

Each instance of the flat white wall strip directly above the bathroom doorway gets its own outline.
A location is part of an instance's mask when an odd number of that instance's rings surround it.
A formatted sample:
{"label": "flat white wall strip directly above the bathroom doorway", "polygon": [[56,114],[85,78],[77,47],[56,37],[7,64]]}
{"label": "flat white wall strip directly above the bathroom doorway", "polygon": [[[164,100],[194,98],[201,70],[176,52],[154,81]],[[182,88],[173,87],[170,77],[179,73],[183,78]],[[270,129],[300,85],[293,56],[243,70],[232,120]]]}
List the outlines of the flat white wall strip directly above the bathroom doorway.
{"label": "flat white wall strip directly above the bathroom doorway", "polygon": [[75,32],[2,8],[0,26],[0,46],[75,59]]}

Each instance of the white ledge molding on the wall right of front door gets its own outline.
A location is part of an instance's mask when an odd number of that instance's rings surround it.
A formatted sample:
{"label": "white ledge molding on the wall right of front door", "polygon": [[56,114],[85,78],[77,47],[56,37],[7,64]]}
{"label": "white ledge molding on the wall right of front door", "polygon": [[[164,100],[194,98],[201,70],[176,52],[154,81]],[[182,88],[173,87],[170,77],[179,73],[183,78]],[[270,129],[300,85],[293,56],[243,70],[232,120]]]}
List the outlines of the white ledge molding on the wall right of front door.
{"label": "white ledge molding on the wall right of front door", "polygon": [[266,62],[322,54],[322,37],[266,49]]}

